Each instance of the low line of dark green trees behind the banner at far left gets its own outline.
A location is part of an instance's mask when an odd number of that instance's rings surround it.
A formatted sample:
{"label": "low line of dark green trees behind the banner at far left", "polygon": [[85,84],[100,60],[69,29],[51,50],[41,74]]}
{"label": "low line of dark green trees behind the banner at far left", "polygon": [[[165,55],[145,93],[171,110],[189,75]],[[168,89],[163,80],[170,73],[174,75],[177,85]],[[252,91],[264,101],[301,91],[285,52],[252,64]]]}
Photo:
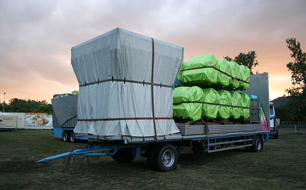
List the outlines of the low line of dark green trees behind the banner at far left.
{"label": "low line of dark green trees behind the banner at far left", "polygon": [[[0,103],[0,110],[3,111],[3,102]],[[14,112],[14,113],[52,113],[52,105],[46,100],[36,101],[36,100],[24,100],[18,98],[12,98],[7,104],[5,102],[4,112]]]}

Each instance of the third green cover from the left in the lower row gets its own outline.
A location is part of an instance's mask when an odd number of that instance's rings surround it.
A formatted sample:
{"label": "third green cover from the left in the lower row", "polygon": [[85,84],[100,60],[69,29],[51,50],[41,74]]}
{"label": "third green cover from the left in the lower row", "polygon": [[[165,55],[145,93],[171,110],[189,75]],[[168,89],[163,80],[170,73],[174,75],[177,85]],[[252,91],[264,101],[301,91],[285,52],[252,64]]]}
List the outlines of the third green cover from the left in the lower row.
{"label": "third green cover from the left in the lower row", "polygon": [[[220,95],[220,104],[231,105],[231,93],[226,90],[218,90],[218,94]],[[220,119],[228,119],[230,117],[230,109],[229,106],[219,105],[217,118]]]}

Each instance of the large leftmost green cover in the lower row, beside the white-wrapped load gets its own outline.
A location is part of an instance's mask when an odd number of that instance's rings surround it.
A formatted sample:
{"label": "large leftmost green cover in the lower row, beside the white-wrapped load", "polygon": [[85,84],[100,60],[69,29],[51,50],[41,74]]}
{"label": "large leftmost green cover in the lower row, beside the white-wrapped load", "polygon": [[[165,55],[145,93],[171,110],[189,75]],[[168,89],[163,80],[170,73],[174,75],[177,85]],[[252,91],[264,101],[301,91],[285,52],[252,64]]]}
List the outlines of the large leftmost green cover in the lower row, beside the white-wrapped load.
{"label": "large leftmost green cover in the lower row, beside the white-wrapped load", "polygon": [[202,101],[203,91],[199,87],[178,87],[173,89],[173,117],[197,121],[201,118],[201,103],[180,103],[186,101]]}

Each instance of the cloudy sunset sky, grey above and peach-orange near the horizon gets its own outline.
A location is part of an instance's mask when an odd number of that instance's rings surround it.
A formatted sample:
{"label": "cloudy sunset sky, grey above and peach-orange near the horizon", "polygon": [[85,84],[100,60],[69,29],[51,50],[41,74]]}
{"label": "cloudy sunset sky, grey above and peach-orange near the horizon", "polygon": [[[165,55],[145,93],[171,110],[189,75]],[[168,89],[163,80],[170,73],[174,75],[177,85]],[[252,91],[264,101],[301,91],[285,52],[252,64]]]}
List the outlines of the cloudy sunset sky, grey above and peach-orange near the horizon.
{"label": "cloudy sunset sky, grey above and peach-orange near the horizon", "polygon": [[306,1],[0,0],[0,98],[46,100],[78,90],[71,47],[122,28],[185,48],[184,60],[256,51],[270,99],[292,86],[286,39],[306,51]]}

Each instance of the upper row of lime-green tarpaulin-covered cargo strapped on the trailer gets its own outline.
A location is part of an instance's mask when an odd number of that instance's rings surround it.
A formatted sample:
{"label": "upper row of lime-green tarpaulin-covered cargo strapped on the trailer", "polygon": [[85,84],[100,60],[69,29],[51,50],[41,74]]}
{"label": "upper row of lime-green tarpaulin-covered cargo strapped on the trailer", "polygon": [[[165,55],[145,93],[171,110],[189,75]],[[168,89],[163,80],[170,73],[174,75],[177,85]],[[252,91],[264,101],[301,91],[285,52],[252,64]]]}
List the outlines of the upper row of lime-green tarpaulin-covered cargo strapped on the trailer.
{"label": "upper row of lime-green tarpaulin-covered cargo strapped on the trailer", "polygon": [[[247,90],[249,88],[250,69],[236,62],[217,59],[212,54],[196,56],[184,62],[177,76],[183,86],[213,88],[215,90]],[[178,81],[175,82],[178,87]]]}

